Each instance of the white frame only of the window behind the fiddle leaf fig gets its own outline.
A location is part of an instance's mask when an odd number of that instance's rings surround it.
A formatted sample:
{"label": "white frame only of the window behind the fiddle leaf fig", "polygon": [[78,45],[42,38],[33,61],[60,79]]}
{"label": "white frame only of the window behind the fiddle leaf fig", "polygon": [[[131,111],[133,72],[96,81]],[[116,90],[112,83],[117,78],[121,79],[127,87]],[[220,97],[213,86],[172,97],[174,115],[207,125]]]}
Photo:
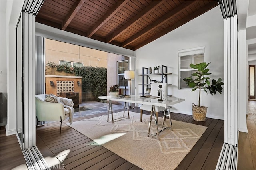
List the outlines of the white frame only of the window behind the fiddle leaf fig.
{"label": "white frame only of the window behind the fiddle leaf fig", "polygon": [[[192,57],[192,55],[198,55],[198,54],[202,55],[201,62],[204,62],[204,59],[205,59],[205,46],[191,48],[191,49],[184,49],[184,50],[179,50],[178,51],[178,89],[179,90],[184,90],[184,89],[185,90],[186,89],[191,90],[191,89],[193,89],[193,88],[190,88],[188,86],[182,87],[183,79],[182,79],[181,75],[182,75],[183,71],[196,71],[196,69],[190,68],[189,65],[188,65],[188,67],[189,67],[188,69],[181,69],[180,68],[181,67],[181,61],[182,61],[181,57],[185,57],[185,56],[189,56],[189,55]],[[195,64],[195,63],[193,63],[193,64]]]}

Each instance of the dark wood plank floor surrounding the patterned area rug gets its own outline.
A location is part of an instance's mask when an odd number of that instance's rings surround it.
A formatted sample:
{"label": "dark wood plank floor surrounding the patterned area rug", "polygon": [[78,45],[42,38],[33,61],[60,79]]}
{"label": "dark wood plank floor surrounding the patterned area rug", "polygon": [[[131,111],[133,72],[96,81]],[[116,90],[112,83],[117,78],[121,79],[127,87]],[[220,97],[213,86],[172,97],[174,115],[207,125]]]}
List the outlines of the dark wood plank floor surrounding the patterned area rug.
{"label": "dark wood plank floor surrounding the patterned area rug", "polygon": [[[117,110],[115,112],[122,111]],[[130,110],[140,114],[140,108]],[[102,113],[100,115],[104,115]],[[150,114],[144,111],[144,114]],[[90,115],[74,119],[74,121],[88,119],[99,115]],[[163,113],[159,113],[162,117]],[[191,115],[171,113],[172,119],[198,125],[207,126],[206,132],[198,140],[192,150],[176,168],[214,170],[224,142],[224,121],[206,118],[204,122],[194,121]],[[120,156],[96,144],[86,136],[62,123],[62,133],[59,133],[60,123],[53,122],[40,126],[36,131],[36,145],[43,156],[55,157],[53,168],[64,166],[67,170],[106,169],[106,170],[138,170],[136,165],[124,160]],[[68,152],[67,152],[68,151]],[[60,163],[61,162],[61,163]],[[56,166],[58,165],[58,166]]]}

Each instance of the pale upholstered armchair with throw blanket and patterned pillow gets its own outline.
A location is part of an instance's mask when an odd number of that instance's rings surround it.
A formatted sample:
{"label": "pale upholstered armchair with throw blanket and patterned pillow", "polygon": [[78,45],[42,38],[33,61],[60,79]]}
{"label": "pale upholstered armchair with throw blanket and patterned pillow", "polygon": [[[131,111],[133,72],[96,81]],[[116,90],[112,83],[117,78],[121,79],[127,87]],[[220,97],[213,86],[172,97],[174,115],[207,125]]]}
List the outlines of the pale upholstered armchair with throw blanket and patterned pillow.
{"label": "pale upholstered armchair with throw blanket and patterned pillow", "polygon": [[36,126],[38,126],[38,122],[41,121],[60,121],[61,133],[62,121],[70,117],[70,112],[72,111],[70,111],[70,109],[68,108],[65,108],[63,103],[53,103],[44,101],[46,96],[47,95],[45,94],[36,95]]}

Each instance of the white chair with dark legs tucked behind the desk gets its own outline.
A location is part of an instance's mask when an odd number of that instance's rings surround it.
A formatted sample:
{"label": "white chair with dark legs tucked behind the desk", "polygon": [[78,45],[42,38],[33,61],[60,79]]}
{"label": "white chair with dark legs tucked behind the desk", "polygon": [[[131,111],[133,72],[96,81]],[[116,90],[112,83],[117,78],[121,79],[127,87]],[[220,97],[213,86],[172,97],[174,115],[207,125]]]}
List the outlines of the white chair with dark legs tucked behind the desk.
{"label": "white chair with dark legs tucked behind the desk", "polygon": [[[167,97],[167,83],[152,83],[151,84],[150,95],[158,96],[158,90],[160,90],[160,88],[158,87],[159,85],[162,85],[162,98],[166,99],[166,97]],[[142,122],[143,110],[151,111],[151,109],[152,109],[151,105],[141,105],[140,106],[140,121],[141,122]],[[158,112],[164,111],[165,107],[155,106],[155,109],[156,109],[156,119],[158,119]]]}

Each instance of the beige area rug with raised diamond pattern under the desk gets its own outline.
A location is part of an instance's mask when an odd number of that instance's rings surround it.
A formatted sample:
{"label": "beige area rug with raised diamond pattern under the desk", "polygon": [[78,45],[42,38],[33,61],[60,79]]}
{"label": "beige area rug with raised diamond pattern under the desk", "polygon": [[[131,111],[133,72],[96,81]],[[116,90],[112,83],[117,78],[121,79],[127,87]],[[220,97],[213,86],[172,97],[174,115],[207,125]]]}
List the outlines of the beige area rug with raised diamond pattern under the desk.
{"label": "beige area rug with raised diamond pattern under the desk", "polygon": [[[164,130],[158,140],[147,137],[149,118],[143,115],[140,122],[140,113],[130,112],[128,119],[119,112],[114,113],[114,124],[104,115],[67,125],[144,170],[175,169],[207,128],[172,120],[173,131]],[[159,130],[162,120],[159,118]],[[155,125],[150,133],[156,133]]]}

